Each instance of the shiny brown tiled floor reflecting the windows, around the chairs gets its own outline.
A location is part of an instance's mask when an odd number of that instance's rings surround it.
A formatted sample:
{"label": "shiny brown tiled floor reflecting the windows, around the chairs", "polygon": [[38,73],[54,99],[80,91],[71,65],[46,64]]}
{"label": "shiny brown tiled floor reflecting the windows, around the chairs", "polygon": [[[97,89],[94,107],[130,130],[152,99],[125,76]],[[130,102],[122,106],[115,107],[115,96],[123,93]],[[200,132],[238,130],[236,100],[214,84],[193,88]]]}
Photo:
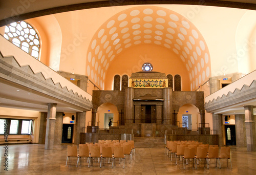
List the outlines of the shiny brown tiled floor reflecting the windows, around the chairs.
{"label": "shiny brown tiled floor reflecting the windows, around the chairs", "polygon": [[[83,160],[82,166],[76,167],[76,159],[71,159],[71,165],[66,165],[67,145],[55,146],[52,150],[44,149],[43,144],[16,144],[0,145],[1,163],[0,174],[255,174],[256,152],[247,152],[246,148],[231,147],[232,166],[226,160],[221,160],[222,169],[216,168],[214,161],[210,168],[204,168],[203,161],[199,163],[198,169],[192,167],[189,162],[183,169],[181,162],[175,165],[164,153],[164,148],[137,148],[132,163],[125,169],[122,163],[116,163],[111,168],[111,163],[105,163],[105,167],[99,168],[95,161],[94,167],[88,168],[88,163]],[[8,153],[8,157],[5,156]],[[5,158],[8,158],[8,171],[5,170]]]}

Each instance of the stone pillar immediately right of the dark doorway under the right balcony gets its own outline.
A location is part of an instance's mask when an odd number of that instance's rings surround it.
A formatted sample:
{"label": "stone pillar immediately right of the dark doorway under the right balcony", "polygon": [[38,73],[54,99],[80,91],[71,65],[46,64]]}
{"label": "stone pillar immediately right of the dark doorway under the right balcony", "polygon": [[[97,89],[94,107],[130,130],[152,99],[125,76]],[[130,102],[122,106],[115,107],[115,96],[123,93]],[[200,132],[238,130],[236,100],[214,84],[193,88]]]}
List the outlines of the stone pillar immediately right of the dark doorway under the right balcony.
{"label": "stone pillar immediately right of the dark doorway under the right balcony", "polygon": [[246,129],[245,129],[245,117],[243,114],[234,115],[236,121],[236,142],[237,147],[246,146]]}

